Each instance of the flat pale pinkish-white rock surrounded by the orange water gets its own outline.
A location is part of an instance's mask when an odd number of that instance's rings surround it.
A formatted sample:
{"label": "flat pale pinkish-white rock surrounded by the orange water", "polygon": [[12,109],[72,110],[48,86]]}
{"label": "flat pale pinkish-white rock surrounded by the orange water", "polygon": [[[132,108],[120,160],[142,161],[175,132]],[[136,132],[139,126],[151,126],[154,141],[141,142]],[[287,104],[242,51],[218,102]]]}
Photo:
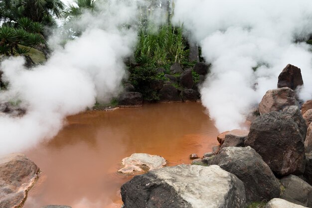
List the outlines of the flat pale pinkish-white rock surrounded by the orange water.
{"label": "flat pale pinkish-white rock surrounded by the orange water", "polygon": [[149,170],[162,168],[167,164],[166,160],[157,155],[146,153],[134,153],[122,160],[124,168],[118,172],[122,174],[143,173]]}

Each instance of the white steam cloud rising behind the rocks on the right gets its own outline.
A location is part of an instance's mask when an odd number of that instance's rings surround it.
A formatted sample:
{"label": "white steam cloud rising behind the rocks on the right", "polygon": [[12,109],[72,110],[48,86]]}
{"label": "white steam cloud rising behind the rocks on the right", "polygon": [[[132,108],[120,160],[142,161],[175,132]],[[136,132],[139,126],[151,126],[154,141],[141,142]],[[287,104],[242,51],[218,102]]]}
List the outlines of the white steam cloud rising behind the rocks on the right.
{"label": "white steam cloud rising behind the rocks on the right", "polygon": [[312,33],[312,1],[176,0],[173,21],[183,22],[212,63],[201,97],[219,131],[244,128],[288,63],[302,69],[300,98],[312,98],[311,47],[295,43]]}

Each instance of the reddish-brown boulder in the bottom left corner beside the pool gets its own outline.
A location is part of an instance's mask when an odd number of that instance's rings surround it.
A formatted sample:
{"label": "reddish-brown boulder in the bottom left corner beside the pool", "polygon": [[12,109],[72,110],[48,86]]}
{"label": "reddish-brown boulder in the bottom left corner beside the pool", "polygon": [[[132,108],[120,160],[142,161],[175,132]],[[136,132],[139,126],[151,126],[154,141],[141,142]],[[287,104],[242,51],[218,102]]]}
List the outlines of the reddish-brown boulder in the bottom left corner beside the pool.
{"label": "reddish-brown boulder in the bottom left corner beside the pool", "polygon": [[39,168],[22,154],[0,157],[0,208],[20,208],[38,178]]}

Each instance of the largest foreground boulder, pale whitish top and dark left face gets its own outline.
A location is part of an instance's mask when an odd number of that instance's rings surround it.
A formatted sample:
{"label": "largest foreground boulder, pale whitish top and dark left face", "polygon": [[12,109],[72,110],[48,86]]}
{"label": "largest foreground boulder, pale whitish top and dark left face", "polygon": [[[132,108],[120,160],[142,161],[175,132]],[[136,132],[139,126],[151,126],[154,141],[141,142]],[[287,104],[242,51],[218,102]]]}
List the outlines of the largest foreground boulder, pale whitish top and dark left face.
{"label": "largest foreground boulder, pale whitish top and dark left face", "polygon": [[121,187],[124,208],[243,208],[245,188],[218,166],[179,165],[135,176]]}

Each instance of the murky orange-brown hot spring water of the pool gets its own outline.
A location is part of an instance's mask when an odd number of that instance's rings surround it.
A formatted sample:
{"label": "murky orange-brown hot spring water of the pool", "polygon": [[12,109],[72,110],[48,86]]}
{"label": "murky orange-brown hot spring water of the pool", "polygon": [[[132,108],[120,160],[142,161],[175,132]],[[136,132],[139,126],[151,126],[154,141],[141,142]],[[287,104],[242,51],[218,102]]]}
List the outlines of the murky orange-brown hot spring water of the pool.
{"label": "murky orange-brown hot spring water of the pool", "polygon": [[90,111],[67,118],[52,140],[25,152],[41,169],[24,208],[120,208],[120,187],[132,176],[117,173],[132,153],[160,155],[168,166],[211,151],[217,130],[200,103],[149,104]]}

